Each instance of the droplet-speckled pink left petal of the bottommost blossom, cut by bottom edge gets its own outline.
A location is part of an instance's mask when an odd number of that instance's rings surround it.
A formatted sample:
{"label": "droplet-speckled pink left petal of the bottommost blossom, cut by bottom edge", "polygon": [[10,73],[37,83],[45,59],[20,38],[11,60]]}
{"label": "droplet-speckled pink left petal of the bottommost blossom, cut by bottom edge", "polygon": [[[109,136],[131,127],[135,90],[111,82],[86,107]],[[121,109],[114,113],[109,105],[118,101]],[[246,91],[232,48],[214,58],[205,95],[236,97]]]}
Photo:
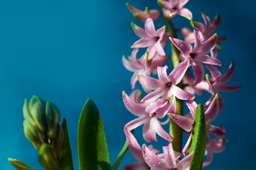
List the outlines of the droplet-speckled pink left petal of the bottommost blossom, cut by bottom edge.
{"label": "droplet-speckled pink left petal of the bottommost blossom, cut by bottom edge", "polygon": [[156,154],[154,154],[154,152],[151,152],[151,150],[149,150],[145,144],[142,145],[142,154],[146,164],[149,165],[151,169],[166,169],[164,162]]}

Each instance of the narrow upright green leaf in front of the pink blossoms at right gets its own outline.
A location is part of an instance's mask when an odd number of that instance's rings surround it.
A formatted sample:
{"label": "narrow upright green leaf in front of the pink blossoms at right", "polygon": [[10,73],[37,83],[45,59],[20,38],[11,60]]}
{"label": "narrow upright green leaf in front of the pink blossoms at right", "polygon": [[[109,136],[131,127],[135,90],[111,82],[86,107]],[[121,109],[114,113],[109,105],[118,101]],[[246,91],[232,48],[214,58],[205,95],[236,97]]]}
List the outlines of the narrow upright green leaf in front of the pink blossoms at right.
{"label": "narrow upright green leaf in front of the pink blossoms at right", "polygon": [[206,151],[206,118],[203,111],[202,104],[198,104],[196,108],[193,130],[192,142],[188,149],[188,153],[193,152],[191,159],[191,170],[202,169],[203,158]]}

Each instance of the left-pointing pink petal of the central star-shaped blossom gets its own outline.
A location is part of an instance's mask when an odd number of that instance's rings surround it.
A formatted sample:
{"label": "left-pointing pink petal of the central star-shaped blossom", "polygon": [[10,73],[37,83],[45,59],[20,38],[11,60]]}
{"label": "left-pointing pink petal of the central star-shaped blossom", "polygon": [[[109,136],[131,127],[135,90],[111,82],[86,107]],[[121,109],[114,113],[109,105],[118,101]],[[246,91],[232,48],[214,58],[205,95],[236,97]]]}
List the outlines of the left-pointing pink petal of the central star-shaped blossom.
{"label": "left-pointing pink petal of the central star-shaped blossom", "polygon": [[162,82],[159,79],[154,79],[152,77],[145,77],[137,74],[139,83],[142,84],[146,89],[155,90],[162,86]]}

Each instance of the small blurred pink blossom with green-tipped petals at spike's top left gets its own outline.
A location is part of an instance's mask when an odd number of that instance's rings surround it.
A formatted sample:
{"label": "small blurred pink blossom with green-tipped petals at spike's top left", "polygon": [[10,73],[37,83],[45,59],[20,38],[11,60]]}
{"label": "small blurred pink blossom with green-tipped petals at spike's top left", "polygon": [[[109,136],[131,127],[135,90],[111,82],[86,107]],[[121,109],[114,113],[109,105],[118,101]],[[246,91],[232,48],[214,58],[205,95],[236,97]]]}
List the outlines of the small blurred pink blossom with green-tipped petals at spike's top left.
{"label": "small blurred pink blossom with green-tipped petals at spike's top left", "polygon": [[126,5],[129,11],[134,14],[134,18],[136,18],[138,21],[145,22],[147,18],[156,20],[159,18],[159,16],[161,16],[161,13],[159,13],[158,10],[150,10],[148,7],[146,7],[145,11],[141,11],[128,3]]}

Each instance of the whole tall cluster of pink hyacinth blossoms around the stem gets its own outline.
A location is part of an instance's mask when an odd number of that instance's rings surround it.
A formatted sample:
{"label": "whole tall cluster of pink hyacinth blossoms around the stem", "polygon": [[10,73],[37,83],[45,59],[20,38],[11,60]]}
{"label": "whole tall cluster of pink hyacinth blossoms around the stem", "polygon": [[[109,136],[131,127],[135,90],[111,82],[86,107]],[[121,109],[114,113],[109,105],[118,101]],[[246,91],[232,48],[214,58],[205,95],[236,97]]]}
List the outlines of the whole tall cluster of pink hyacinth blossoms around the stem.
{"label": "whole tall cluster of pink hyacinth blossoms around the stem", "polygon": [[[144,28],[132,23],[134,33],[139,40],[132,45],[131,57],[128,57],[128,60],[122,57],[122,62],[125,68],[134,72],[131,79],[132,89],[135,89],[135,84],[139,81],[146,95],[142,97],[142,91],[138,89],[129,96],[124,91],[122,93],[124,106],[138,117],[124,126],[129,149],[138,162],[129,164],[124,169],[189,169],[193,152],[188,153],[188,148],[191,143],[193,118],[198,105],[194,99],[196,98],[195,94],[201,95],[202,91],[208,91],[211,94],[204,105],[207,130],[205,154],[207,158],[203,162],[203,166],[210,164],[213,153],[222,152],[225,149],[227,140],[224,137],[224,127],[217,127],[210,123],[223,111],[224,101],[219,92],[236,91],[240,89],[240,86],[226,84],[233,76],[233,61],[223,75],[215,67],[223,65],[218,60],[217,53],[220,42],[225,42],[224,38],[214,33],[220,23],[219,16],[215,16],[210,23],[210,18],[202,13],[205,25],[191,21],[194,30],[181,28],[176,31],[183,35],[183,40],[169,37],[166,26],[158,30],[154,26],[154,20],[160,17],[170,20],[176,15],[180,15],[192,20],[191,11],[188,8],[183,8],[187,2],[188,0],[159,0],[158,3],[163,8],[163,14],[157,10],[149,10],[149,8],[141,11],[127,4],[134,17],[138,21],[144,22]],[[166,57],[164,51],[168,40],[171,40],[171,43],[178,49],[181,60],[171,72],[166,66],[166,60],[170,57]],[[143,50],[144,47],[146,47],[144,55],[137,56],[138,51]],[[189,67],[192,67],[192,73],[188,71]],[[210,76],[205,74],[205,68],[210,72]],[[157,74],[158,78],[151,77],[152,74]],[[178,84],[183,84],[183,86]],[[176,114],[177,98],[186,101],[186,106],[190,111],[188,114]],[[172,143],[163,147],[163,153],[160,153],[152,145],[144,144],[140,147],[130,132],[143,125],[142,134],[146,142],[158,141],[156,134],[172,142],[173,137],[162,128],[162,125],[166,125],[171,119],[188,135],[188,141],[183,147],[182,153],[174,152]],[[212,139],[210,134],[216,137]],[[182,154],[183,159],[181,159]]]}

